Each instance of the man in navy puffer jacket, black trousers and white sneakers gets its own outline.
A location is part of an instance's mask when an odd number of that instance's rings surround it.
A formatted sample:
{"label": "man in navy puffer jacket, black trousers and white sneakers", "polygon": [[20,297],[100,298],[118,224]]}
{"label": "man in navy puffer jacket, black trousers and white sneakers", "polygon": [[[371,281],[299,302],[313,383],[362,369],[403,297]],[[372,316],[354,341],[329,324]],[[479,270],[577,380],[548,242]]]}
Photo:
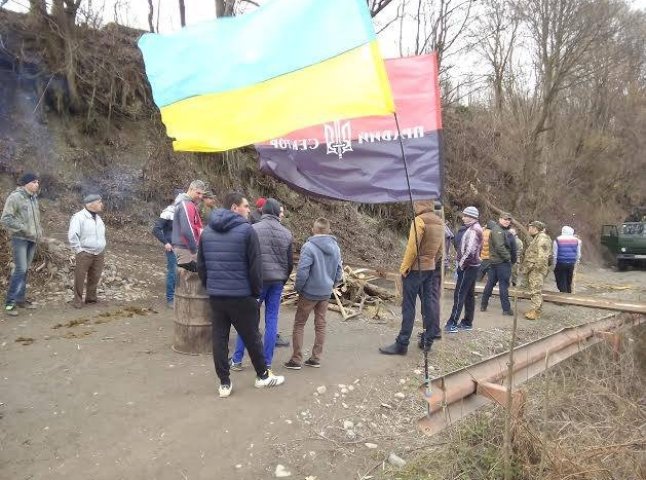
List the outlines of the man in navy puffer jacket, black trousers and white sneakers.
{"label": "man in navy puffer jacket, black trousers and white sneakers", "polygon": [[209,294],[213,323],[213,362],[220,379],[220,397],[231,395],[229,333],[231,325],[249,351],[256,370],[256,388],[281,385],[285,377],[267,369],[260,340],[258,297],[262,291],[262,261],[258,235],[247,220],[249,202],[229,193],[202,231],[197,272]]}

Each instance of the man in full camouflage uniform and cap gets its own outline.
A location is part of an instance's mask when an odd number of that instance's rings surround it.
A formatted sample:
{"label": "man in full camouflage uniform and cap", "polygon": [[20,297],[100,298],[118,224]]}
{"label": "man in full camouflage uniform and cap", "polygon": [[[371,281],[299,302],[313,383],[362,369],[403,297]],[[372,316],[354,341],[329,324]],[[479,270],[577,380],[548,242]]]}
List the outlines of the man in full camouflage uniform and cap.
{"label": "man in full camouflage uniform and cap", "polygon": [[529,234],[533,237],[525,251],[522,273],[527,278],[532,309],[525,313],[527,320],[538,320],[543,307],[543,281],[549,270],[552,254],[552,240],[545,233],[545,224],[539,221],[529,223]]}

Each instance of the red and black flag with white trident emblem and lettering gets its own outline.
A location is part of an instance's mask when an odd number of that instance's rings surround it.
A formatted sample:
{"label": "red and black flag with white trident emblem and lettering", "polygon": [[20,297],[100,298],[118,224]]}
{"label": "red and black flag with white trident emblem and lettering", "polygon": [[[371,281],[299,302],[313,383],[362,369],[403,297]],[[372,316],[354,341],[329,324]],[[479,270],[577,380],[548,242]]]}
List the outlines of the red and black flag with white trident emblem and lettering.
{"label": "red and black flag with white trident emblem and lettering", "polygon": [[[386,60],[386,70],[399,130],[392,115],[305,128],[256,145],[260,169],[315,196],[362,203],[408,201],[401,136],[413,199],[440,198],[442,119],[437,57]],[[334,92],[321,95],[333,96]]]}

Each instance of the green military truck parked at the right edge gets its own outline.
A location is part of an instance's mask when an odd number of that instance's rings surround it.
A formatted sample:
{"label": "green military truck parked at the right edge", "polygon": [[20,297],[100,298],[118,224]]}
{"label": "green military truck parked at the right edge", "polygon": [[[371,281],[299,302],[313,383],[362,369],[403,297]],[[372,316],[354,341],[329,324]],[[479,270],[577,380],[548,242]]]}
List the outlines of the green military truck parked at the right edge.
{"label": "green military truck parked at the right edge", "polygon": [[619,271],[626,270],[630,265],[646,263],[646,220],[604,225],[601,244],[606,246],[606,256],[612,258],[613,263],[616,262]]}

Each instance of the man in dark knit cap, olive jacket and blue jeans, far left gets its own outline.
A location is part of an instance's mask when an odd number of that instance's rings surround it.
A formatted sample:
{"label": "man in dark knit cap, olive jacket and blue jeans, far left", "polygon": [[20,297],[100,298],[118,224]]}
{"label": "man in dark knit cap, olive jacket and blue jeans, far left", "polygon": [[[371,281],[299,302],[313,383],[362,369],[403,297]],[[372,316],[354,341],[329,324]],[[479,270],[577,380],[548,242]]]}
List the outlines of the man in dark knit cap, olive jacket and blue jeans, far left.
{"label": "man in dark knit cap, olive jacket and blue jeans, far left", "polygon": [[38,209],[40,182],[35,173],[25,173],[8,197],[2,210],[0,224],[11,234],[14,269],[9,280],[5,313],[18,315],[17,307],[33,308],[25,298],[27,271],[34,259],[36,245],[43,238]]}

